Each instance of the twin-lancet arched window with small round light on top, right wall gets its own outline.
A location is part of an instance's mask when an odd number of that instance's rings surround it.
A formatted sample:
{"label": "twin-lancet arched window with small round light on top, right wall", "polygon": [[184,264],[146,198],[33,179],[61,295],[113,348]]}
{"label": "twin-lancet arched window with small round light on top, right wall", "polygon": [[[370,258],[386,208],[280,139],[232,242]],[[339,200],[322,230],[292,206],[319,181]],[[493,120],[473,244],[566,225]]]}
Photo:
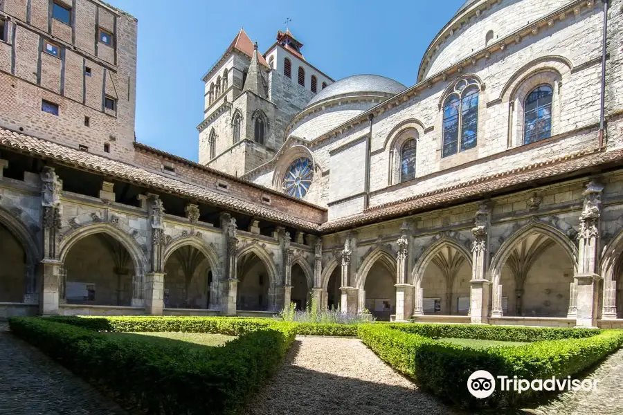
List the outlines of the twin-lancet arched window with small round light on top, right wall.
{"label": "twin-lancet arched window with small round light on top, right wall", "polygon": [[476,80],[460,80],[446,98],[442,157],[476,147],[478,91],[480,88]]}

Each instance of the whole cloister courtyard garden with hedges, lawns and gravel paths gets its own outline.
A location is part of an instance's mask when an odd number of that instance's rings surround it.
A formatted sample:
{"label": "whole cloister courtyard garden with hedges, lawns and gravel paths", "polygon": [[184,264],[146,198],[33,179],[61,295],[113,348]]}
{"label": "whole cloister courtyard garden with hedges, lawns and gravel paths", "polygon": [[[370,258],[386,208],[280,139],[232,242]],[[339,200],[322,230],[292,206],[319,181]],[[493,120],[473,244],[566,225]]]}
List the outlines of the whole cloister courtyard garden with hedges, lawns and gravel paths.
{"label": "whole cloister courtyard garden with hedges, lawns and gravel paths", "polygon": [[[14,331],[0,324],[0,414],[176,414],[185,408],[188,414],[208,409],[246,415],[580,415],[597,409],[614,415],[623,410],[623,333],[618,330],[240,317],[17,317],[10,326]],[[559,348],[561,366],[554,365],[554,371],[599,379],[599,388],[528,400],[498,396],[484,405],[467,396],[457,367],[480,362],[493,372],[496,360],[487,359],[496,350],[525,347],[513,356],[531,356],[530,348],[536,348],[539,352],[528,359],[537,366],[539,356],[548,354],[543,350]],[[415,356],[415,363],[406,356]],[[439,362],[426,367],[431,358]],[[448,358],[455,367],[441,369]],[[554,373],[550,369],[545,371]],[[440,370],[446,371],[440,380],[453,384],[441,392],[426,380]],[[167,385],[177,389],[165,393]],[[145,387],[156,398],[140,398]],[[204,395],[195,395],[199,390]]]}

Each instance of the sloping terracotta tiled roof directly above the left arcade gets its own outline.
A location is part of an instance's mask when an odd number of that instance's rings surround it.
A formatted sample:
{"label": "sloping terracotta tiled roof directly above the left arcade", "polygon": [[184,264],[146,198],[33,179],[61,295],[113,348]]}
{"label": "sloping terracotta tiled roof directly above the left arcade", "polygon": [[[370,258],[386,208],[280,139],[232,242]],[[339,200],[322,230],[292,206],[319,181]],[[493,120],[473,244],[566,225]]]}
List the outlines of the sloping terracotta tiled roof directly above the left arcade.
{"label": "sloping terracotta tiled roof directly above the left arcade", "polygon": [[141,167],[110,160],[109,158],[96,154],[71,149],[64,145],[26,136],[7,129],[0,129],[0,146],[53,158],[62,163],[69,163],[84,169],[90,169],[102,174],[132,181],[146,187],[153,187],[171,194],[179,194],[211,205],[218,205],[224,209],[233,210],[235,212],[258,216],[258,218],[285,223],[305,230],[318,230],[317,223],[298,219],[289,214],[269,209],[261,203],[251,203],[249,201],[237,199],[228,194],[221,194],[204,187],[192,185],[161,174],[152,173]]}

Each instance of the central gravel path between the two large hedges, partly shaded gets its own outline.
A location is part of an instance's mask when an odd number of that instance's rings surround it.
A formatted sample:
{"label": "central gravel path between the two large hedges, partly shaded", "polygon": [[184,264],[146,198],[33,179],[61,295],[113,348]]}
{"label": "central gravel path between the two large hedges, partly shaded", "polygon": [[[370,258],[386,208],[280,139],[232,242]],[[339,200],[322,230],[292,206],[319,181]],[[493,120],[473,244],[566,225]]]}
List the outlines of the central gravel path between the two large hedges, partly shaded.
{"label": "central gravel path between the two large hedges, partly shaded", "polygon": [[298,337],[246,415],[417,415],[453,412],[358,339]]}

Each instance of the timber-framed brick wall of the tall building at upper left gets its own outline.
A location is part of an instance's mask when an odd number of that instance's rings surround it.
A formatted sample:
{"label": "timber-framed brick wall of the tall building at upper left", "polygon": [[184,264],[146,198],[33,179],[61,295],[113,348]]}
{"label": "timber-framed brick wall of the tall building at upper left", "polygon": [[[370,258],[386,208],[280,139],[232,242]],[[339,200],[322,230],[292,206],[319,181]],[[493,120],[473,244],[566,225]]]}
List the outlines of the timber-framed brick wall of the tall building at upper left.
{"label": "timber-framed brick wall of the tall building at upper left", "polygon": [[[71,8],[70,25],[50,18],[48,0],[3,2],[10,21],[0,44],[0,125],[132,160],[136,19],[96,0],[60,3]],[[96,41],[98,28],[113,34],[111,46]],[[59,47],[57,56],[44,51],[46,41]],[[116,111],[104,108],[105,95]],[[59,115],[43,112],[42,100],[57,104]]]}

